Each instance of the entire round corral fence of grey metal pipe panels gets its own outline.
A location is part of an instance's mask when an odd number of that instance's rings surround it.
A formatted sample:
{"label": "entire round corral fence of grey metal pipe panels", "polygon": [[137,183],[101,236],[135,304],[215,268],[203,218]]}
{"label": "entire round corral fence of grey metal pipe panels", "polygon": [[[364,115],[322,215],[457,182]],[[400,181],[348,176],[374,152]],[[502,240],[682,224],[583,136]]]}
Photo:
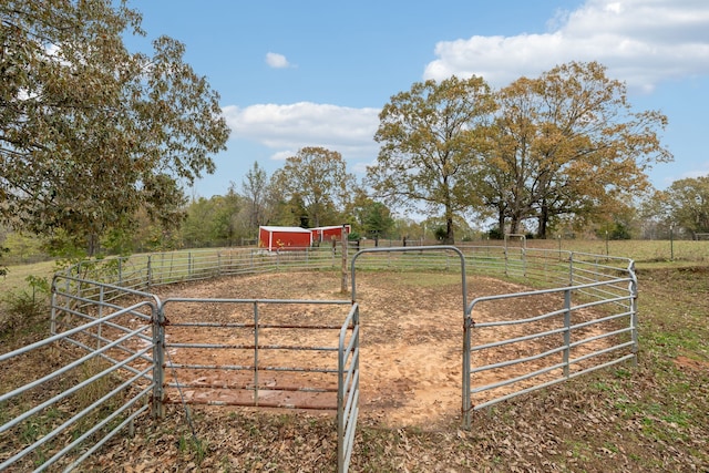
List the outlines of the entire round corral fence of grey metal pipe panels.
{"label": "entire round corral fence of grey metal pipe panels", "polygon": [[[114,435],[130,434],[140,417],[160,417],[168,402],[336,409],[338,470],[347,471],[359,409],[354,266],[461,274],[466,425],[474,410],[636,357],[637,282],[627,258],[524,245],[383,249],[174,251],[82,263],[58,274],[51,337],[0,354],[0,471],[71,471]],[[345,258],[352,261],[353,297],[347,301],[161,300],[151,292],[222,276],[339,271]],[[467,302],[472,275],[505,278],[522,289]],[[530,313],[538,298],[552,307]],[[485,305],[510,310],[485,319]],[[185,316],[204,306],[209,313],[224,309],[228,318]],[[183,337],[195,330],[215,336],[209,343]],[[485,330],[499,339],[477,342]],[[215,362],[223,352],[227,361]],[[284,352],[290,359],[285,364],[276,361]],[[4,376],[11,371],[4,367],[37,353],[45,362],[31,381],[27,372]],[[499,377],[510,368],[514,376]],[[214,376],[225,372],[229,377]]]}

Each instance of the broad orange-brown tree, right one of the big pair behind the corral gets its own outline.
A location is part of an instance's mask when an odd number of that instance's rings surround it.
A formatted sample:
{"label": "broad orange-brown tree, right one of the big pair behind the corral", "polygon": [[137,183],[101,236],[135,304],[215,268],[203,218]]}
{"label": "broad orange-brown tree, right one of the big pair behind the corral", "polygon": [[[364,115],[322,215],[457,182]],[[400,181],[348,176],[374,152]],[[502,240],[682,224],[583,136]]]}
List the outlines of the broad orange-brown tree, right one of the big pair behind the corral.
{"label": "broad orange-brown tree, right one of the big pair behind the corral", "polygon": [[672,158],[657,135],[665,115],[634,112],[625,85],[596,62],[522,78],[497,101],[480,192],[512,233],[534,218],[544,238],[555,218],[613,213],[648,188],[654,163]]}

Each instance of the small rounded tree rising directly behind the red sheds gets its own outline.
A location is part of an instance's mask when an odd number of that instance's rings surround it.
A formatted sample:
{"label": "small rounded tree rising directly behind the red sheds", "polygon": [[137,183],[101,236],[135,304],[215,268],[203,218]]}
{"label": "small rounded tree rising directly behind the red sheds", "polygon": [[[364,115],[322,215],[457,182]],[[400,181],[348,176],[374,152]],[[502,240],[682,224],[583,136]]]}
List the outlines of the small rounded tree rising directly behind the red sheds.
{"label": "small rounded tree rising directly behind the red sheds", "polygon": [[304,147],[274,173],[274,182],[292,208],[302,208],[302,225],[337,225],[354,193],[354,176],[347,172],[340,153]]}

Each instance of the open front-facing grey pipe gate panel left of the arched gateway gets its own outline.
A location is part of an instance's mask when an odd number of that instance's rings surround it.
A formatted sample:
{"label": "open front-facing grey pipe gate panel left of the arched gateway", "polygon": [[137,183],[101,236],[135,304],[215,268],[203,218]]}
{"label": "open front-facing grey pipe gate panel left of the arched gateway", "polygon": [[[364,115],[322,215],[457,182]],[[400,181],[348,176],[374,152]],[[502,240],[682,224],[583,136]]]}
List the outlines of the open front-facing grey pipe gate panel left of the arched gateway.
{"label": "open front-facing grey pipe gate panel left of the arched gateway", "polygon": [[[210,305],[209,313],[197,311]],[[350,300],[169,298],[164,402],[337,410]],[[208,332],[192,340],[192,333]],[[179,341],[168,341],[179,340]],[[172,354],[169,354],[172,353]]]}

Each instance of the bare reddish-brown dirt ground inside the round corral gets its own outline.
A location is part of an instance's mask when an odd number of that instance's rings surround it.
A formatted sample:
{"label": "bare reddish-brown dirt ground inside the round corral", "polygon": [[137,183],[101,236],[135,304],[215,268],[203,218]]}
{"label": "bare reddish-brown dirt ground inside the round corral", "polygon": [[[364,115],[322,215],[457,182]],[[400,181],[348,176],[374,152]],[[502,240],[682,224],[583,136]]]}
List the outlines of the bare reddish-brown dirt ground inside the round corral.
{"label": "bare reddish-brown dirt ground inside the round corral", "polygon": [[[467,301],[483,295],[517,292],[525,288],[499,279],[469,277]],[[202,284],[176,285],[158,290],[158,296],[167,298],[254,298],[254,299],[316,299],[349,300],[349,294],[341,294],[340,277],[337,273],[290,273],[287,275],[256,275],[220,278]],[[419,426],[435,429],[441,425],[460,423],[462,407],[462,348],[463,348],[463,300],[460,275],[454,274],[409,274],[409,273],[363,273],[357,277],[357,300],[360,305],[361,321],[361,395],[360,415],[387,426]],[[553,297],[511,300],[505,304],[480,306],[473,313],[476,322],[501,320],[543,313],[558,308]],[[259,323],[318,322],[339,326],[349,307],[337,310],[331,307],[286,306],[274,313],[259,308]],[[222,328],[237,320],[248,320],[253,313],[250,306],[245,310],[229,305],[167,305],[167,342],[192,343],[202,347],[205,343],[226,347],[245,347],[253,339],[253,329],[245,338],[235,336],[233,327]],[[179,327],[186,321],[208,321],[212,327]],[[474,331],[474,345],[522,335],[528,327],[512,326],[501,329]],[[243,330],[244,331],[244,330]],[[297,329],[281,331],[261,330],[259,345],[278,347],[282,345],[322,343],[337,347],[339,330],[330,340],[319,339],[320,332],[304,333]],[[307,342],[304,339],[309,338]],[[253,341],[251,341],[253,343]],[[524,348],[507,347],[502,350],[487,350],[473,358],[473,366],[528,356],[541,350],[558,346],[561,336],[536,342]],[[243,354],[237,356],[236,352]],[[246,354],[244,354],[246,353]],[[168,361],[198,367],[227,366],[244,367],[253,361],[253,350],[204,349],[173,347],[168,350]],[[247,358],[244,358],[244,357]],[[242,357],[242,358],[239,358]],[[259,364],[282,366],[325,366],[337,368],[337,356],[322,353],[307,354],[292,350],[261,350]],[[270,358],[269,358],[270,357]],[[558,362],[554,359],[554,362]],[[323,361],[323,358],[328,358]],[[523,363],[473,376],[473,384],[481,385],[502,378],[512,378],[551,361]],[[557,373],[554,373],[558,376]],[[251,373],[244,370],[168,370],[173,377],[186,384],[182,391],[168,392],[172,402],[184,398],[195,403],[244,404],[251,402]],[[169,381],[169,380],[168,380]],[[536,381],[538,382],[538,380]],[[330,393],[312,393],[302,388],[327,385]],[[279,371],[259,374],[260,405],[305,405],[317,408],[337,405],[337,378],[317,372],[284,373]],[[268,388],[273,388],[269,390]],[[514,389],[524,388],[517,383]],[[249,391],[248,388],[251,388]],[[497,390],[494,394],[510,392],[511,387]],[[473,398],[473,403],[490,399],[492,394]]]}

